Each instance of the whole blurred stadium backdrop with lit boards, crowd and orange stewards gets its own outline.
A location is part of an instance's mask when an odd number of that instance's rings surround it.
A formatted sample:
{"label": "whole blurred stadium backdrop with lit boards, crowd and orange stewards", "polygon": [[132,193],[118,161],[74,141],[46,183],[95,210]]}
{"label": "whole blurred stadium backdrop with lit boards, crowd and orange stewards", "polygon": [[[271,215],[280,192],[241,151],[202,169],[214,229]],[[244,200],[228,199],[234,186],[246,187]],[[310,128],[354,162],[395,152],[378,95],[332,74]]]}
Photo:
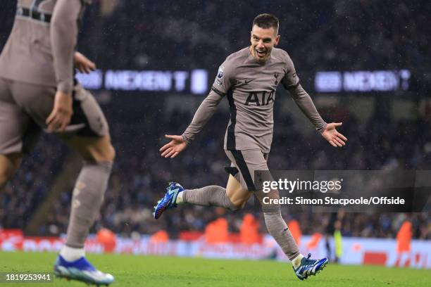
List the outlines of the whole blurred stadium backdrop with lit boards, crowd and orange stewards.
{"label": "whole blurred stadium backdrop with lit boards, crowd and orange stewards", "polygon": [[[0,49],[11,31],[15,6],[15,1],[1,4]],[[284,257],[266,236],[253,200],[235,213],[184,206],[158,220],[151,215],[168,181],[186,188],[225,186],[227,101],[180,156],[161,158],[158,148],[167,142],[164,134],[182,134],[208,93],[218,65],[249,45],[251,23],[259,13],[280,18],[279,47],[291,56],[323,118],[343,122],[339,130],[349,138],[344,148],[332,148],[280,87],[271,169],[431,170],[429,1],[96,0],[81,23],[77,50],[94,60],[99,70],[77,77],[106,113],[117,151],[92,232],[109,229],[117,236],[116,245],[109,245],[110,236],[102,232],[90,247],[101,243],[106,251],[128,252],[120,243],[141,238],[143,254],[163,253],[149,246],[168,242],[178,244],[173,255]],[[56,250],[53,242],[66,231],[79,168],[77,155],[44,135],[0,193],[4,234],[15,229],[9,234],[24,234],[22,240],[30,235],[55,236],[46,248]],[[431,268],[429,212],[284,216],[299,231],[304,253],[314,250],[324,256],[329,243],[329,256],[334,258],[341,248],[337,255],[345,263]],[[254,235],[244,236],[244,229]],[[403,236],[413,241],[399,249]],[[249,238],[254,240],[247,242]],[[196,252],[182,251],[186,241]],[[14,248],[6,246],[6,239],[3,242],[3,249]],[[37,249],[37,242],[25,246]],[[230,249],[211,249],[213,243]],[[242,245],[249,249],[238,247]],[[379,252],[383,257],[375,254]]]}

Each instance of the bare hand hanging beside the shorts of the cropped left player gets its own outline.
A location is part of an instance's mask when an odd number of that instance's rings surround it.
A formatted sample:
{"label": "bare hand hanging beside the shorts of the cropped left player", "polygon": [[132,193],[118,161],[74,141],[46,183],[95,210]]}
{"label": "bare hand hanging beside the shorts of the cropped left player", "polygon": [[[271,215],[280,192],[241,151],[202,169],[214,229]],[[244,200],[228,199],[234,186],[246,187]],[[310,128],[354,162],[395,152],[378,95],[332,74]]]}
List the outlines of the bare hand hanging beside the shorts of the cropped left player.
{"label": "bare hand hanging beside the shorts of the cropped left player", "polygon": [[51,115],[46,118],[46,125],[50,132],[64,132],[73,115],[72,95],[57,91],[54,98],[54,108]]}

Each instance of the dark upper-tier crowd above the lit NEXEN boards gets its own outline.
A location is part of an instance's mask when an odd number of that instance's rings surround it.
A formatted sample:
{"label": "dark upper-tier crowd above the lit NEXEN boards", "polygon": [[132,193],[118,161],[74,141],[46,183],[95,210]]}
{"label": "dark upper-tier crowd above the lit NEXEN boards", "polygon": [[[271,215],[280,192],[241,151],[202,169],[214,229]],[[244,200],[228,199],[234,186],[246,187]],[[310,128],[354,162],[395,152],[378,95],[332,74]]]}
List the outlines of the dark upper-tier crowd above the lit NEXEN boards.
{"label": "dark upper-tier crowd above the lit NEXEN boards", "polygon": [[101,68],[216,69],[248,46],[256,11],[279,16],[280,47],[300,71],[422,69],[430,63],[425,0],[118,1],[104,17],[97,17],[99,6],[90,9],[80,47]]}

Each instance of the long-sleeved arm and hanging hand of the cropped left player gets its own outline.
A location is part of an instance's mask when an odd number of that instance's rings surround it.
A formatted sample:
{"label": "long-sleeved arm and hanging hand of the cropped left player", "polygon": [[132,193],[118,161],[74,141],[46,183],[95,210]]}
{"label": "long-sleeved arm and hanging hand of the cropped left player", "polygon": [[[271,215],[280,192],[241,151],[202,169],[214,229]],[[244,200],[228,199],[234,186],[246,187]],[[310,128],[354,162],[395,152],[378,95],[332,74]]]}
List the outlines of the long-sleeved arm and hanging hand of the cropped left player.
{"label": "long-sleeved arm and hanging hand of the cropped left player", "polygon": [[80,0],[58,0],[51,19],[50,37],[57,91],[46,125],[52,132],[64,131],[73,113],[73,61],[81,5]]}

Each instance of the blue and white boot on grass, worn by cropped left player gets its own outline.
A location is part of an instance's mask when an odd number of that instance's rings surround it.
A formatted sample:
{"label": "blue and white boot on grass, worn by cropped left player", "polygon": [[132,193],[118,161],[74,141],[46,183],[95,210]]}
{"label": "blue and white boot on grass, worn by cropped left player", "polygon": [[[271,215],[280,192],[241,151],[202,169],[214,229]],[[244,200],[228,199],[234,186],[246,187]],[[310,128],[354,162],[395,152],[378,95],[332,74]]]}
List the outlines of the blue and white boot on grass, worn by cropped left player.
{"label": "blue and white boot on grass, worn by cropped left player", "polygon": [[96,286],[108,286],[114,281],[111,274],[100,272],[85,257],[68,262],[61,255],[58,255],[54,264],[54,274],[66,280],[77,280]]}

